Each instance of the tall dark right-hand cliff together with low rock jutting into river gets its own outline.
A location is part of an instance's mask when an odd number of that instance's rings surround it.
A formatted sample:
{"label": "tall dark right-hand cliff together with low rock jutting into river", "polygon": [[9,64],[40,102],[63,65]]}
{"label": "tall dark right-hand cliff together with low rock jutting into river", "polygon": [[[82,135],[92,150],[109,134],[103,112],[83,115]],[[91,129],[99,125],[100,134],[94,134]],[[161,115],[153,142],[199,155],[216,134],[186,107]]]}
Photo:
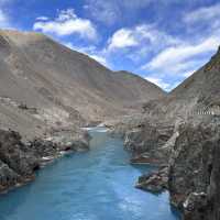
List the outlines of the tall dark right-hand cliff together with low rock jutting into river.
{"label": "tall dark right-hand cliff together with low rock jutting into river", "polygon": [[219,220],[220,124],[182,123],[172,139],[168,165],[140,177],[136,187],[168,189],[184,220]]}

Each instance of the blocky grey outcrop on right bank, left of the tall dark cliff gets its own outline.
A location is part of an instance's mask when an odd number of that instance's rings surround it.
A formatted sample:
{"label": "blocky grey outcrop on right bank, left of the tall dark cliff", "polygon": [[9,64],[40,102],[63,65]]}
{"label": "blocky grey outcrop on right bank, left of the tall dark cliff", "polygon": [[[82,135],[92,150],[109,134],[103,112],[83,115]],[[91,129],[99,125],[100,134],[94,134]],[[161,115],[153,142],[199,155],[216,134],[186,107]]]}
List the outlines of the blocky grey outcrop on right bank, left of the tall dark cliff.
{"label": "blocky grey outcrop on right bank, left of the tall dark cliff", "polygon": [[133,153],[132,163],[164,164],[168,162],[173,125],[145,123],[125,133],[124,146]]}

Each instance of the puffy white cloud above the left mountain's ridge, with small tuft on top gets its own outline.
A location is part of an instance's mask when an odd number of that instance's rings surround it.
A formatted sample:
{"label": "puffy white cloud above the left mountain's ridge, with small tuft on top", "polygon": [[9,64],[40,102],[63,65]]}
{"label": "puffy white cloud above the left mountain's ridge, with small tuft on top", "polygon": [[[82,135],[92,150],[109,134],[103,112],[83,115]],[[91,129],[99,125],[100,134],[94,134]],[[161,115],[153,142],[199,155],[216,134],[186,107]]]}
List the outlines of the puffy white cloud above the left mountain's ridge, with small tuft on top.
{"label": "puffy white cloud above the left mountain's ridge, with small tuft on top", "polygon": [[36,21],[33,29],[58,36],[79,34],[81,37],[97,40],[97,31],[91,21],[78,18],[74,9],[61,11],[55,20]]}

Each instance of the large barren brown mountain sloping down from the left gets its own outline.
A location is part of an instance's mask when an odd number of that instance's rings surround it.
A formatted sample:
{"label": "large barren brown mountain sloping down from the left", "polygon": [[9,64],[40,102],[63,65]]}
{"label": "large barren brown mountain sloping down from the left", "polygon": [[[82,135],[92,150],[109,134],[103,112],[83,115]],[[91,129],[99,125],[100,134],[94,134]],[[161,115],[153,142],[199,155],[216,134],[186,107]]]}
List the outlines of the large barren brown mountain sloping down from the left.
{"label": "large barren brown mountain sloping down from the left", "polygon": [[52,38],[0,31],[0,125],[38,135],[43,128],[102,121],[163,97],[155,85],[114,73]]}

